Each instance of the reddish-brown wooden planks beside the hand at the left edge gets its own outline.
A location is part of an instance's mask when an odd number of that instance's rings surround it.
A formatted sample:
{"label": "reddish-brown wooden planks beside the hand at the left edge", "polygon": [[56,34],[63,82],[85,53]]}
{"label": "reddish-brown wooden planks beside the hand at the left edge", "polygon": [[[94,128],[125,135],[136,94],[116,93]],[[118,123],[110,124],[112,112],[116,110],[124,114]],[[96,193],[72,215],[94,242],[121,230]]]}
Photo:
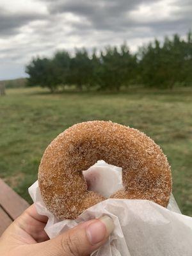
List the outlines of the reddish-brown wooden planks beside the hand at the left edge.
{"label": "reddish-brown wooden planks beside the hand at the left edge", "polygon": [[28,207],[28,202],[0,179],[0,236]]}

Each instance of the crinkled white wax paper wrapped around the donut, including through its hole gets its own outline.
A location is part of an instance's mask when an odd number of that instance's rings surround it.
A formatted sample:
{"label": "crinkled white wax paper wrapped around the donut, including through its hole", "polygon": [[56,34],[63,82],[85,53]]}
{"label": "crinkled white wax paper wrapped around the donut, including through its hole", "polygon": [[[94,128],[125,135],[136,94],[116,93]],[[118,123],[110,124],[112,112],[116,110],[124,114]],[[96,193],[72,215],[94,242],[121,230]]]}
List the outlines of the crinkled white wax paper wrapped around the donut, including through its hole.
{"label": "crinkled white wax paper wrapped around the donut, including through its hole", "polygon": [[[83,174],[88,189],[106,197],[122,188],[122,168],[104,161]],[[115,229],[94,256],[192,256],[192,218],[180,213],[173,195],[167,209],[148,200],[108,199],[86,209],[76,220],[59,221],[45,207],[38,181],[29,194],[38,213],[49,218],[45,232],[50,238],[83,221],[111,216]]]}

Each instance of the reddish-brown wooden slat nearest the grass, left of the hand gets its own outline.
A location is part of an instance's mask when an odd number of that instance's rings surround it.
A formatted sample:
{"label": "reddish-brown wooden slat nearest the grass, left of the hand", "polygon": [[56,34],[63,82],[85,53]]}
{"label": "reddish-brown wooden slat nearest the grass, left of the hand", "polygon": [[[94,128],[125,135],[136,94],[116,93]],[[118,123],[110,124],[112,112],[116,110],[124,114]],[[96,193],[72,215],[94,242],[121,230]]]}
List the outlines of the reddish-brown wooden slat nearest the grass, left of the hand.
{"label": "reddish-brown wooden slat nearest the grass, left of the hand", "polygon": [[3,206],[4,211],[13,220],[19,217],[29,207],[28,202],[15,193],[2,179],[0,179],[0,205]]}

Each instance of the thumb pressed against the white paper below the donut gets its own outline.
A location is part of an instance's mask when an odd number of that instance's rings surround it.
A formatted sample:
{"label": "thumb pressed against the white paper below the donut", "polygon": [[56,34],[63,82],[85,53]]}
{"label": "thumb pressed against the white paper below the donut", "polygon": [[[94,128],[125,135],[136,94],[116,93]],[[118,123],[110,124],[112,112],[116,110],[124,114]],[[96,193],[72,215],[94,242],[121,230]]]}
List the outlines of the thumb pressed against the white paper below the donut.
{"label": "thumb pressed against the white paper below the donut", "polygon": [[36,244],[36,246],[40,246],[36,248],[39,253],[36,255],[90,255],[106,242],[113,228],[113,220],[109,216],[86,221],[54,239]]}

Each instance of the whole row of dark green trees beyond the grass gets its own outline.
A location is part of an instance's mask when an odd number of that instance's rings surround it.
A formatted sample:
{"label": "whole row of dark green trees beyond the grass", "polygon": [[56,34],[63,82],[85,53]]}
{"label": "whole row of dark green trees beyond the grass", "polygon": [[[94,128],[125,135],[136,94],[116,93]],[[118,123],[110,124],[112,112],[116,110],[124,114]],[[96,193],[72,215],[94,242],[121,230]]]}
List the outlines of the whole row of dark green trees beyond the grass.
{"label": "whole row of dark green trees beyond the grass", "polygon": [[58,51],[52,58],[36,57],[26,66],[29,86],[61,86],[79,90],[115,90],[134,84],[173,88],[192,84],[192,33],[154,40],[131,53],[127,44],[108,46],[91,53],[85,48],[75,54]]}

